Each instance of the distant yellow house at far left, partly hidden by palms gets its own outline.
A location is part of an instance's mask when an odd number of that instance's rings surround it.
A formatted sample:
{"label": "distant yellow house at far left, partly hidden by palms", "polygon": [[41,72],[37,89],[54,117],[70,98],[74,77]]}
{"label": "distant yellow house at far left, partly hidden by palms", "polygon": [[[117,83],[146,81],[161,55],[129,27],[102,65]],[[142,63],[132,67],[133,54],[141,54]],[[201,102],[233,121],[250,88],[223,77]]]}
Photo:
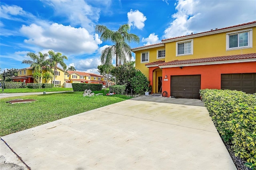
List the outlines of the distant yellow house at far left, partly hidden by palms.
{"label": "distant yellow house at far left, partly hidden by palms", "polygon": [[[54,70],[54,68],[52,69]],[[12,81],[16,82],[26,82],[26,83],[36,83],[33,78],[34,70],[32,70],[32,67],[27,67],[23,69],[18,69],[18,76],[11,77]],[[46,69],[43,69],[42,75],[46,72]],[[57,67],[57,71],[55,72],[55,85],[62,85],[64,83],[64,70]],[[42,83],[46,83],[45,79],[42,78]],[[48,80],[47,83],[53,83],[52,80]]]}

